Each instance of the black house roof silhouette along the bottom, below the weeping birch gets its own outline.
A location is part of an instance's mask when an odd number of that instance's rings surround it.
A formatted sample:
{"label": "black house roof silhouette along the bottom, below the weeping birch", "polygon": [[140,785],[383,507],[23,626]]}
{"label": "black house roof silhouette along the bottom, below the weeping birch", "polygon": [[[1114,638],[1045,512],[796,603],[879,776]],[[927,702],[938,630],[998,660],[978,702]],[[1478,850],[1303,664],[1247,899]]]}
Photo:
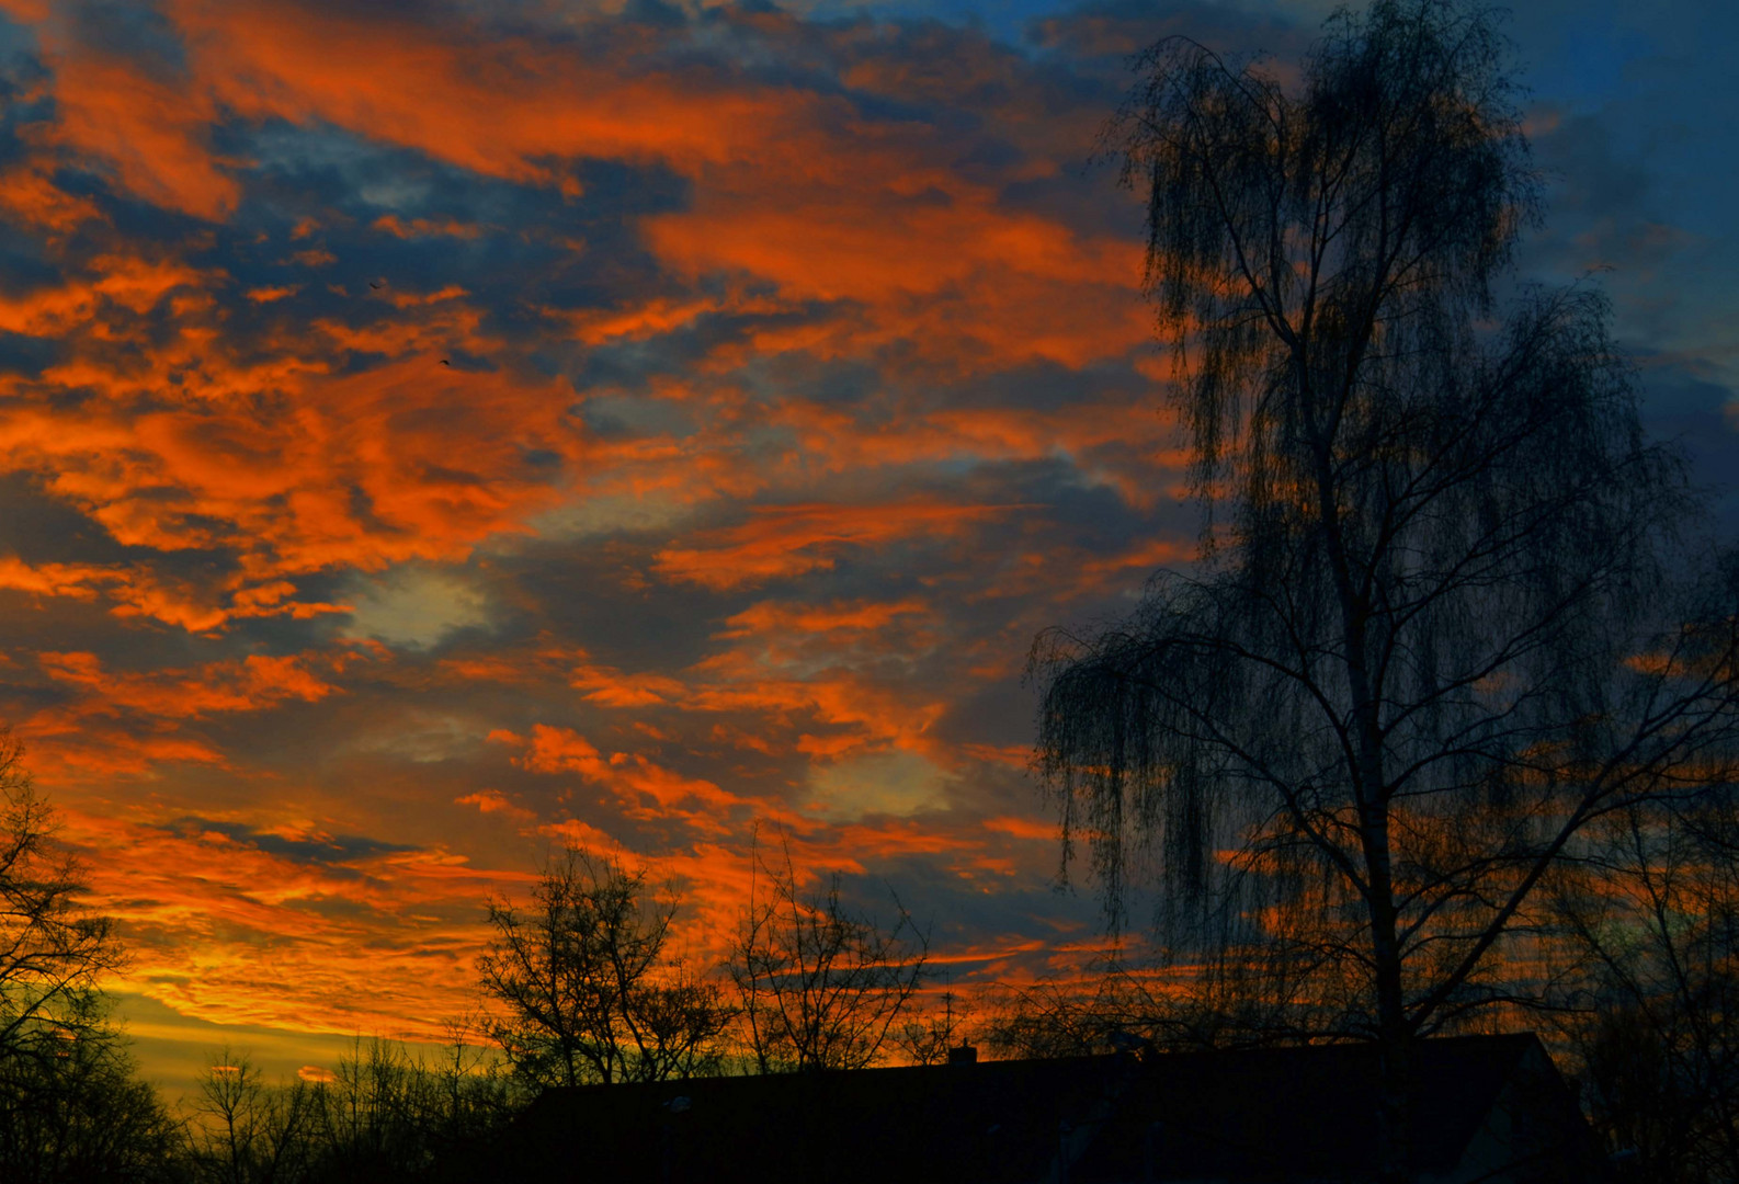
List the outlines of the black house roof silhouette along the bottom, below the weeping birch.
{"label": "black house roof silhouette along the bottom, below the weeping birch", "polygon": [[[1370,1181],[1370,1045],[988,1061],[548,1090],[476,1170],[539,1182]],[[1605,1179],[1532,1034],[1419,1045],[1429,1184]],[[471,1175],[470,1179],[480,1179]]]}

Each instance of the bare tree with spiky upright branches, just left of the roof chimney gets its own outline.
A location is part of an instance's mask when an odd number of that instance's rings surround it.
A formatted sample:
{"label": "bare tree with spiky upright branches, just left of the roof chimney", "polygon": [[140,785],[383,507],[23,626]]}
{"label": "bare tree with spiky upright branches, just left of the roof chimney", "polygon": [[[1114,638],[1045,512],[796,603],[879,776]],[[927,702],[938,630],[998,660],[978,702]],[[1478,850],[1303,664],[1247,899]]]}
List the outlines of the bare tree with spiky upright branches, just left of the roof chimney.
{"label": "bare tree with spiky upright branches, just left of the roof chimney", "polygon": [[790,848],[772,868],[758,847],[750,859],[755,880],[727,970],[756,1069],[875,1064],[923,984],[929,939],[897,897],[892,928],[847,908],[838,873],[805,895]]}

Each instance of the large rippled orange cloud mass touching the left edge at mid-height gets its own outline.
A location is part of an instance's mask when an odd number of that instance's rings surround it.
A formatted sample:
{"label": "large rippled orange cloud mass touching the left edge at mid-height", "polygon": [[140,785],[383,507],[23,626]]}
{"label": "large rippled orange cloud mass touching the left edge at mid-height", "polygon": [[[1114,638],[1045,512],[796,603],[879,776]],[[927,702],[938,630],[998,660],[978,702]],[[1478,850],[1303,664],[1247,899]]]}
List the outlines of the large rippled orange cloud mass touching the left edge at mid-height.
{"label": "large rippled orange cloud mass touching the left edge at mid-height", "polygon": [[283,574],[459,558],[490,534],[525,530],[556,497],[527,452],[577,456],[560,382],[461,374],[426,356],[292,374],[280,381],[299,398],[252,405],[14,407],[0,412],[0,457],[52,473],[49,490],[120,542],[237,546],[243,581],[282,589]]}

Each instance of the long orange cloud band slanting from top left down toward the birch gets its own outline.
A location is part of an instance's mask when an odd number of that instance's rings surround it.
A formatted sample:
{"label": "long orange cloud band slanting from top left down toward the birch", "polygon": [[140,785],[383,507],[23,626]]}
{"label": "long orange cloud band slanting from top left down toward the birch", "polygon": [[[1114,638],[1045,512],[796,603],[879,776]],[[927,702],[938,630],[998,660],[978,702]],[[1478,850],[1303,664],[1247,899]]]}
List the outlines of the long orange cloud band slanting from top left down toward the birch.
{"label": "long orange cloud band slanting from top left down toward the birch", "polygon": [[[1002,200],[1002,184],[1054,172],[1047,156],[974,176],[943,130],[866,116],[845,94],[696,63],[649,66],[661,35],[643,30],[610,30],[610,54],[464,19],[329,5],[311,14],[292,0],[179,0],[167,16],[190,50],[184,80],[170,87],[64,42],[54,57],[64,111],[43,136],[108,162],[130,191],[172,209],[223,217],[237,200],[233,167],[209,148],[219,113],[325,122],[576,195],[562,162],[657,162],[696,183],[690,209],[645,219],[673,271],[746,275],[788,301],[850,306],[819,337],[812,327],[769,330],[756,339],[763,351],[897,344],[930,365],[970,355],[993,367],[1035,358],[1078,367],[1123,356],[1149,334],[1132,299],[1141,264],[1132,236],[1085,235]],[[776,43],[802,31],[760,21],[755,35]],[[1007,73],[1010,61],[981,68]],[[845,80],[866,94],[897,92],[863,56]],[[953,94],[929,89],[937,103],[965,101],[970,80]],[[1043,115],[1021,111],[998,130],[1031,150],[1063,148],[1029,130]],[[400,236],[464,233],[450,219],[398,214],[376,226]]]}

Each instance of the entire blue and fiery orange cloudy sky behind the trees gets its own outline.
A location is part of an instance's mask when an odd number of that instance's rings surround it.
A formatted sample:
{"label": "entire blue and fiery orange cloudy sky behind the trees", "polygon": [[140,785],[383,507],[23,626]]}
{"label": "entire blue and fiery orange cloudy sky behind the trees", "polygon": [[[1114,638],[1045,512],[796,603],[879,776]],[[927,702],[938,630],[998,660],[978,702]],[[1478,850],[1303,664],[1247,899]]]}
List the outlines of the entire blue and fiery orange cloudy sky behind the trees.
{"label": "entire blue and fiery orange cloudy sky behind the trees", "polygon": [[[1087,158],[1132,50],[1327,9],[0,0],[0,720],[148,1074],[438,1033],[563,841],[703,960],[758,821],[955,982],[1090,946],[1021,668],[1196,520]],[[1736,14],[1509,24],[1523,275],[1598,273],[1709,483]]]}

